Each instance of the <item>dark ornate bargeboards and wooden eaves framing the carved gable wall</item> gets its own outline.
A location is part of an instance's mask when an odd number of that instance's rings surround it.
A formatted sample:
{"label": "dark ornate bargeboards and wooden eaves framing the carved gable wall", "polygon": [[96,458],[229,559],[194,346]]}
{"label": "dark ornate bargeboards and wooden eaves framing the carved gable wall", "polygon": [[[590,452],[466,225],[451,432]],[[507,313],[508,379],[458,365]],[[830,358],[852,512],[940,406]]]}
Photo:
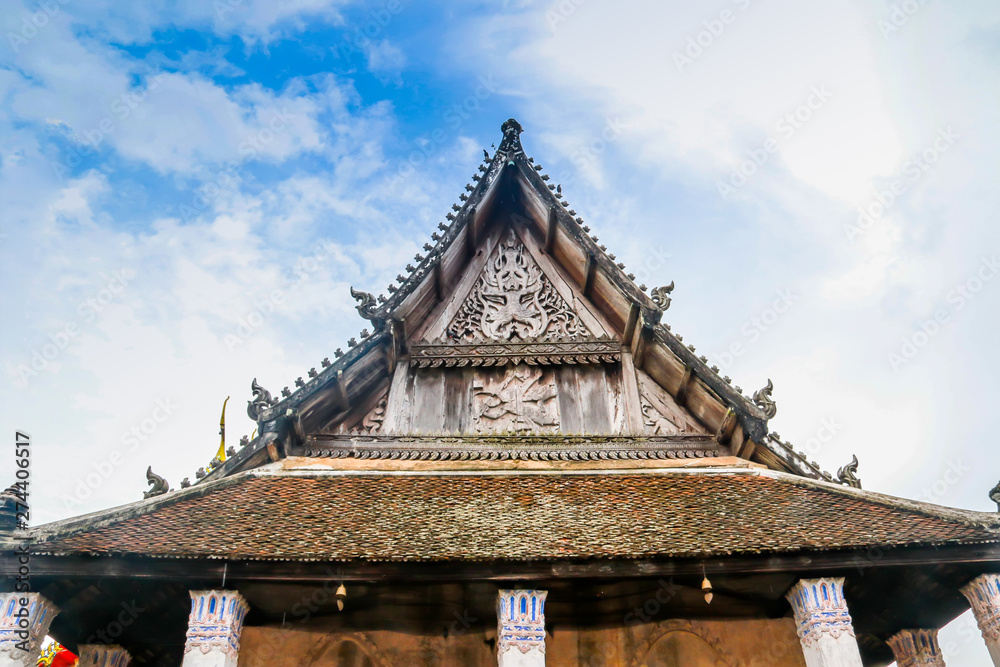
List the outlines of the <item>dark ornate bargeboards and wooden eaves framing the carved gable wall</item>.
{"label": "dark ornate bargeboards and wooden eaves framing the carved gable wall", "polygon": [[[595,363],[609,358],[606,353],[611,344],[616,346],[615,354],[617,349],[631,350],[635,368],[641,372],[645,363],[649,377],[669,394],[679,410],[689,413],[720,444],[730,445],[737,456],[775,470],[836,481],[789,443],[781,441],[777,434],[769,432],[768,420],[776,409],[770,397],[773,389],[770,381],[752,397],[744,394],[740,387],[733,386],[729,377],[721,376],[704,355],[697,355],[693,345],[684,343],[682,336],[661,323],[669,307],[672,284],[647,294],[647,286],[636,284],[625,265],[599,244],[583,218],[570,208],[561,187],[549,182],[541,165],[525,154],[520,124],[510,119],[503,124],[502,131],[499,147],[492,156],[487,152],[480,173],[461,196],[462,203],[453,206],[447,221],[439,225],[440,231],[432,234],[431,242],[424,245],[425,252],[415,257],[415,265],[407,265],[406,275],[397,277],[398,285],[389,287],[388,297],[376,298],[352,289],[352,295],[360,302],[358,311],[370,326],[357,340],[349,341],[346,354],[337,349],[333,361],[324,359],[318,370],[313,368],[305,379],[298,378],[295,389],[286,387],[280,397],[258,391],[255,382],[250,412],[258,422],[258,437],[234,458],[212,470],[202,483],[294,453],[281,446],[282,442],[301,443],[311,434],[343,428],[352,419],[357,424],[363,415],[357,413],[356,406],[367,403],[371,407],[377,401],[373,396],[379,392],[384,395],[399,359],[412,358],[414,367],[421,363],[497,363],[477,359],[481,355],[479,349],[458,350],[464,355],[461,359],[442,361],[440,350],[431,349],[437,343],[422,340],[419,335],[426,334],[427,322],[447,311],[449,290],[460,289],[462,281],[474,275],[477,257],[484,251],[492,252],[491,247],[495,250],[497,228],[504,225],[518,228],[526,245],[536,243],[536,259],[543,256],[551,264],[547,270],[564,276],[576,307],[582,308],[581,304],[586,302],[589,304],[586,308],[604,324],[601,336],[593,332],[595,337],[591,339],[591,345],[601,354],[559,359],[568,359],[568,363]],[[529,242],[530,239],[535,241]],[[439,345],[446,347],[451,342],[442,341]],[[420,350],[415,350],[413,343],[421,344],[423,351],[429,350],[437,358],[421,359],[417,354]],[[527,346],[532,344],[528,342]],[[528,363],[552,363],[552,358],[550,354],[547,359]],[[444,428],[440,432],[449,430]],[[840,481],[849,483],[850,479]]]}

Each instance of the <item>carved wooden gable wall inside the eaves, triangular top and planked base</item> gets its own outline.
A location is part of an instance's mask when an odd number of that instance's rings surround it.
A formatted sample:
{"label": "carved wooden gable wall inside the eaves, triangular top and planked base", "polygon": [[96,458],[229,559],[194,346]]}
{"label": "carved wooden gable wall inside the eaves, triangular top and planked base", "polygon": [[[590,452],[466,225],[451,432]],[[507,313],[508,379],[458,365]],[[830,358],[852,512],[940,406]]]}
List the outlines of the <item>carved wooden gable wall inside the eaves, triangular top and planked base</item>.
{"label": "carved wooden gable wall inside the eaves, triangular top and planked base", "polygon": [[414,330],[391,385],[335,432],[708,435],[623,363],[620,333],[516,224],[492,230],[452,293]]}

